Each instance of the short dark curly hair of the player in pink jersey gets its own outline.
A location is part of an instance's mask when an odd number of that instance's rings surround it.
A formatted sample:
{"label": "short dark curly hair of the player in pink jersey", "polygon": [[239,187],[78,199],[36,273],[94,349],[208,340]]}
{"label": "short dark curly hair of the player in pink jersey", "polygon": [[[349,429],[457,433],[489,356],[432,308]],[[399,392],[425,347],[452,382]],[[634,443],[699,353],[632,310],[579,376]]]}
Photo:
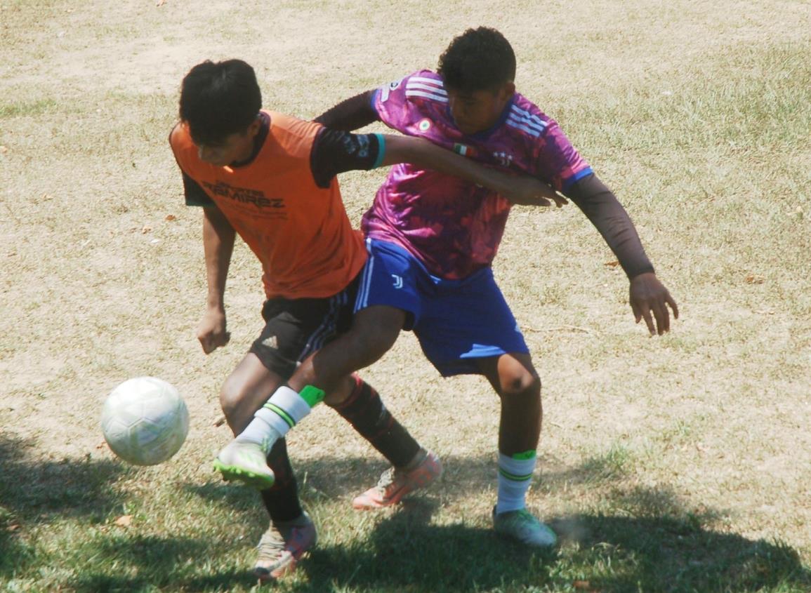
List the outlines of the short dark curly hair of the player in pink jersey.
{"label": "short dark curly hair of the player in pink jersey", "polygon": [[515,53],[504,36],[487,27],[454,37],[437,68],[445,87],[462,92],[496,90],[515,80]]}

